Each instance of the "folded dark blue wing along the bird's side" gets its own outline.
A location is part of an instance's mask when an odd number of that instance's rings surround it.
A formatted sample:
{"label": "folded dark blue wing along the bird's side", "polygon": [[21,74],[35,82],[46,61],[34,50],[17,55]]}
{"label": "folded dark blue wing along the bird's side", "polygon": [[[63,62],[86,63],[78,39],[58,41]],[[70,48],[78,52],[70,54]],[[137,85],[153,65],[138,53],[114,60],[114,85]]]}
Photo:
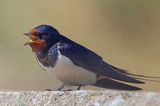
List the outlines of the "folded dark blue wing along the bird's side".
{"label": "folded dark blue wing along the bird's side", "polygon": [[70,58],[75,65],[88,69],[89,71],[120,81],[139,84],[144,83],[115,70],[96,53],[68,38],[59,44],[59,49],[61,54]]}

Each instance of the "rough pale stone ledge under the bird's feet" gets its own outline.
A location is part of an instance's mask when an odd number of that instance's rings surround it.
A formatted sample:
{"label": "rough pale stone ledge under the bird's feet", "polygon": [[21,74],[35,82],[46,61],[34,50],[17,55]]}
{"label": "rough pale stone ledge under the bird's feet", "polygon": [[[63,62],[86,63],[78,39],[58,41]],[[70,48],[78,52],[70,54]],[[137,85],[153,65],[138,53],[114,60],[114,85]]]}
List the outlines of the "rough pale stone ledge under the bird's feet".
{"label": "rough pale stone ledge under the bird's feet", "polygon": [[160,93],[112,90],[1,91],[0,106],[160,106]]}

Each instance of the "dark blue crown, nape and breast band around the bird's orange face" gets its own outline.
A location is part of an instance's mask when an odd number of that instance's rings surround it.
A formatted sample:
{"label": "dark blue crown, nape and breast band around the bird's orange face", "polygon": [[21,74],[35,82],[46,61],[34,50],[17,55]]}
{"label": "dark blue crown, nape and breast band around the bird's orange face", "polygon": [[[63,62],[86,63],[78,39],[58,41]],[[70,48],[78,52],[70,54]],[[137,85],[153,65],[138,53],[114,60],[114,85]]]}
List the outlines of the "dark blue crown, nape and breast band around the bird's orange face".
{"label": "dark blue crown, nape and breast band around the bird's orange face", "polygon": [[40,25],[34,29],[39,32],[39,39],[44,39],[47,45],[46,48],[36,52],[37,59],[45,67],[53,67],[57,61],[58,48],[56,43],[61,39],[60,33],[49,25]]}

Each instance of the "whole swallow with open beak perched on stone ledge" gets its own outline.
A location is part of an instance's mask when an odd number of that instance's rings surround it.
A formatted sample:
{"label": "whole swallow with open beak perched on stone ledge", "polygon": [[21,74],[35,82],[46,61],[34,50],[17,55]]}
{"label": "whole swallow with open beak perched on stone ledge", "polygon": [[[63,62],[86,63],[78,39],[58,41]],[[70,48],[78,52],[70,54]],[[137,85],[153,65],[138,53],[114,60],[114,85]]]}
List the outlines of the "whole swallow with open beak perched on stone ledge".
{"label": "whole swallow with open beak perched on stone ledge", "polygon": [[51,77],[62,82],[57,90],[63,90],[65,86],[77,86],[76,90],[80,90],[87,85],[142,90],[130,84],[145,84],[137,77],[152,78],[129,73],[105,62],[100,55],[62,35],[51,25],[41,24],[24,35],[30,39],[24,46],[32,48],[38,64]]}

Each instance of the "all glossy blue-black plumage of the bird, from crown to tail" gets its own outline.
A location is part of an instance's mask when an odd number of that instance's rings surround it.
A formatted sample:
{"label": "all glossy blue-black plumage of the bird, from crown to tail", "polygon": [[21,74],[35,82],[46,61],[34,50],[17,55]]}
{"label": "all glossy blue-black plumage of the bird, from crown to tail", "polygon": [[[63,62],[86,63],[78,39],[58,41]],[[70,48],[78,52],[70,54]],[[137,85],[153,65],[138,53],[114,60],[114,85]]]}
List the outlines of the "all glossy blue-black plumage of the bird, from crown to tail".
{"label": "all glossy blue-black plumage of the bird, from crown to tail", "polygon": [[37,59],[45,67],[54,67],[61,54],[69,58],[74,65],[96,73],[97,76],[104,76],[104,78],[97,80],[94,86],[120,90],[140,90],[140,88],[118,81],[144,83],[106,63],[98,54],[61,35],[52,26],[40,25],[35,29],[40,33],[39,39],[43,39],[47,45],[40,51],[36,51]]}

